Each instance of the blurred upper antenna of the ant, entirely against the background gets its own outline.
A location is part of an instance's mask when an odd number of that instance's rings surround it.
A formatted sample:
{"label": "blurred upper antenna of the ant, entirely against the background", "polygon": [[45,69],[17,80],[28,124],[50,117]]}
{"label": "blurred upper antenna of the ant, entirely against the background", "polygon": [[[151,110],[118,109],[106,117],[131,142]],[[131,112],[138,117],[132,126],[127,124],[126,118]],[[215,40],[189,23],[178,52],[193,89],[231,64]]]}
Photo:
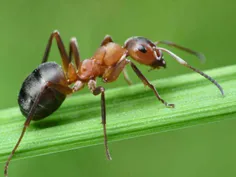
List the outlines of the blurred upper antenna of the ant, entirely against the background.
{"label": "blurred upper antenna of the ant, entirely against the background", "polygon": [[155,45],[158,45],[158,44],[166,44],[168,46],[172,46],[172,47],[175,47],[177,49],[180,49],[180,50],[183,50],[185,52],[188,52],[190,54],[193,54],[195,55],[196,57],[198,57],[200,59],[201,62],[204,62],[206,59],[205,59],[205,56],[204,54],[200,53],[200,52],[196,52],[192,49],[189,49],[189,48],[186,48],[186,47],[183,47],[183,46],[180,46],[178,44],[175,44],[174,42],[171,42],[171,41],[157,41],[157,42],[154,42]]}

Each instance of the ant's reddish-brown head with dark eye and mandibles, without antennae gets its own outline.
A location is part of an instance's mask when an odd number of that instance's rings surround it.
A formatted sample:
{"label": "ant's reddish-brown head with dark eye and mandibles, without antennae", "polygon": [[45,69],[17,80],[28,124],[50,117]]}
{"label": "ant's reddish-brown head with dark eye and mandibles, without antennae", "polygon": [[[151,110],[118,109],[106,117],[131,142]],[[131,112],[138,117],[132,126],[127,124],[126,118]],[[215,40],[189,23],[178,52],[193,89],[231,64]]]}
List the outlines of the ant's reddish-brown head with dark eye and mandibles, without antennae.
{"label": "ant's reddish-brown head with dark eye and mandibles, without antennae", "polygon": [[161,50],[156,45],[144,37],[131,37],[125,41],[124,48],[128,50],[128,55],[141,64],[152,68],[166,67]]}

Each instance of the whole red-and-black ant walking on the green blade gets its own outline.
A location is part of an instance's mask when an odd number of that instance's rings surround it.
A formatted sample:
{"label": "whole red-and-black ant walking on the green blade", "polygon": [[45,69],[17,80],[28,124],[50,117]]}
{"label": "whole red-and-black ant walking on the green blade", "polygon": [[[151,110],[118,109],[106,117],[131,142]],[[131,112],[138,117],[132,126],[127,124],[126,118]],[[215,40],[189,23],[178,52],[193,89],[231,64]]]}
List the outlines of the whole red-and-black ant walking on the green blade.
{"label": "whole red-and-black ant walking on the green blade", "polygon": [[[56,39],[63,67],[55,62],[48,62],[48,56],[53,39]],[[152,89],[159,101],[161,101],[165,106],[173,108],[174,104],[168,104],[164,101],[158,94],[156,88],[145,78],[137,66],[131,60],[127,59],[127,57],[131,57],[140,64],[150,66],[152,69],[160,69],[161,67],[166,67],[166,62],[162,53],[166,52],[181,65],[190,68],[211,81],[218,87],[221,94],[224,95],[222,87],[213,78],[202,71],[193,68],[171,51],[158,47],[158,44],[166,44],[193,54],[200,59],[204,58],[203,54],[170,41],[152,42],[144,37],[131,37],[125,41],[124,46],[122,47],[113,42],[111,36],[107,35],[103,39],[101,46],[91,58],[80,61],[76,38],[70,40],[68,55],[59,32],[54,31],[48,40],[42,63],[25,79],[22,84],[18,96],[18,104],[22,114],[26,117],[26,121],[20,138],[6,162],[4,170],[5,176],[7,177],[8,175],[9,162],[18,148],[31,120],[41,120],[46,118],[60,107],[62,102],[65,100],[66,95],[83,89],[85,85],[88,85],[88,88],[93,95],[101,94],[101,118],[105,152],[107,159],[111,160],[111,155],[107,145],[105,89],[102,86],[96,85],[96,78],[101,77],[105,83],[114,82],[121,72],[123,72],[127,83],[131,84],[125,70],[125,67],[128,64],[131,65],[133,71],[143,84]],[[74,64],[72,63],[72,57],[74,59]]]}

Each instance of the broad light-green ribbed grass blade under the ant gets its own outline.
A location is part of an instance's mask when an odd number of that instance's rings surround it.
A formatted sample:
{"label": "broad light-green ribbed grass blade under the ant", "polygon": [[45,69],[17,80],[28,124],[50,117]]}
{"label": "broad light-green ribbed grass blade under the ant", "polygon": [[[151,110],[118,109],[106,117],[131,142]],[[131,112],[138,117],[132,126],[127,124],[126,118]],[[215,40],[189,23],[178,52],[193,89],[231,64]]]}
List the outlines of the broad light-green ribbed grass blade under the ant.
{"label": "broad light-green ribbed grass blade under the ant", "polygon": [[[152,81],[176,107],[166,108],[142,84],[106,91],[108,143],[236,117],[236,65],[206,71],[225,91],[198,74]],[[13,160],[103,143],[100,96],[69,97],[45,120],[32,122]],[[22,131],[19,108],[0,111],[0,162],[5,162]],[[105,154],[104,154],[105,155]]]}

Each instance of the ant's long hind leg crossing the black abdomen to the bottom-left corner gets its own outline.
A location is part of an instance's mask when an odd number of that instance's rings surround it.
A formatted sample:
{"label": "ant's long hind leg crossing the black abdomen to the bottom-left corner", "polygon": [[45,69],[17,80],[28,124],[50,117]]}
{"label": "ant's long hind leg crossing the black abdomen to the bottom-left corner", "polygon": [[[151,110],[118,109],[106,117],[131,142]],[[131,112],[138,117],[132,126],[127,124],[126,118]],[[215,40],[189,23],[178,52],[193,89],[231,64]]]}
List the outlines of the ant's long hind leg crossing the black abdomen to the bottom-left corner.
{"label": "ant's long hind leg crossing the black abdomen to the bottom-left corner", "polygon": [[8,159],[7,159],[7,162],[6,162],[5,168],[4,168],[4,175],[5,175],[5,177],[8,176],[8,166],[9,166],[9,163],[10,163],[10,161],[11,161],[13,155],[15,154],[15,151],[17,150],[18,146],[20,145],[20,142],[21,142],[21,140],[23,139],[23,136],[24,136],[24,134],[25,134],[25,131],[26,131],[27,127],[29,126],[29,124],[30,124],[30,122],[31,122],[31,120],[32,120],[32,118],[33,118],[33,116],[34,116],[36,107],[37,107],[37,105],[38,105],[38,103],[39,103],[39,101],[40,101],[40,97],[43,95],[43,92],[45,91],[45,89],[46,89],[47,87],[52,87],[52,88],[54,88],[54,89],[56,89],[56,90],[58,90],[59,92],[64,93],[64,94],[70,94],[70,93],[72,93],[71,88],[65,87],[65,86],[61,86],[61,85],[59,85],[59,84],[53,84],[53,83],[50,83],[50,82],[48,82],[47,84],[45,84],[45,85],[41,88],[40,93],[39,93],[38,96],[36,97],[35,102],[33,103],[32,108],[31,108],[30,111],[29,111],[28,117],[27,117],[27,119],[26,119],[26,121],[25,121],[25,123],[24,123],[24,127],[23,127],[23,129],[22,129],[20,138],[18,139],[18,141],[17,141],[15,147],[13,148],[13,150],[12,150],[10,156],[9,156]]}

